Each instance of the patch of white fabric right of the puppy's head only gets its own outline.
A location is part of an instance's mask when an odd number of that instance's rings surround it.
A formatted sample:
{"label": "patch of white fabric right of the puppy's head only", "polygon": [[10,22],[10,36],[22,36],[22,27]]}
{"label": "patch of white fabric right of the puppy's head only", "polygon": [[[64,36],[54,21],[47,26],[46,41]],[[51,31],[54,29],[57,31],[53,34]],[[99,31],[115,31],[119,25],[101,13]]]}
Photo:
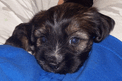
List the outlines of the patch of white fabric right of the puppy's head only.
{"label": "patch of white fabric right of the puppy's head only", "polygon": [[94,0],[93,6],[115,20],[111,35],[122,41],[122,0]]}

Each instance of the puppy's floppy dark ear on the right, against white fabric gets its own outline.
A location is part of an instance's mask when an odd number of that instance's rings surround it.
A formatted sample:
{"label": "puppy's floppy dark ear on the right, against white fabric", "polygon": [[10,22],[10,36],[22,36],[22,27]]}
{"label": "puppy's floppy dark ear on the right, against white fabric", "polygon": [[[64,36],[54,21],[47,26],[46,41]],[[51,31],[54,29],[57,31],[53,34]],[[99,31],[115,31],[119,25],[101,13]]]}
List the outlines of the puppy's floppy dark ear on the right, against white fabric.
{"label": "puppy's floppy dark ear on the right, against white fabric", "polygon": [[[97,22],[97,21],[96,21]],[[108,16],[99,13],[99,18],[95,29],[94,42],[101,42],[107,37],[110,31],[114,28],[114,20]]]}

